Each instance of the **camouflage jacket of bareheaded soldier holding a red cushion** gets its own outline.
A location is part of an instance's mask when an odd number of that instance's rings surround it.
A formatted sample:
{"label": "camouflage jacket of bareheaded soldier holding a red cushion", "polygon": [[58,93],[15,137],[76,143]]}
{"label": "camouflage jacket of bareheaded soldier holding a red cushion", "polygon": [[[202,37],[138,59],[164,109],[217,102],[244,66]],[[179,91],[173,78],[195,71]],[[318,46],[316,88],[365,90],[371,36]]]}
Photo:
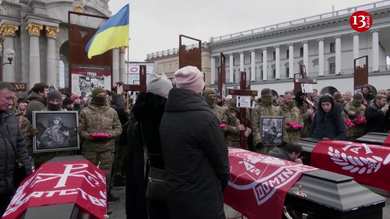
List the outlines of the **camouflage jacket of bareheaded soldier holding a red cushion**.
{"label": "camouflage jacket of bareheaded soldier holding a red cushion", "polygon": [[298,130],[294,130],[289,125],[286,125],[287,122],[296,122],[299,125],[304,125],[302,115],[299,109],[291,104],[291,106],[287,106],[285,102],[282,105],[278,106],[281,115],[284,117],[284,129],[287,132],[288,141],[285,142],[297,142],[300,139],[300,134]]}

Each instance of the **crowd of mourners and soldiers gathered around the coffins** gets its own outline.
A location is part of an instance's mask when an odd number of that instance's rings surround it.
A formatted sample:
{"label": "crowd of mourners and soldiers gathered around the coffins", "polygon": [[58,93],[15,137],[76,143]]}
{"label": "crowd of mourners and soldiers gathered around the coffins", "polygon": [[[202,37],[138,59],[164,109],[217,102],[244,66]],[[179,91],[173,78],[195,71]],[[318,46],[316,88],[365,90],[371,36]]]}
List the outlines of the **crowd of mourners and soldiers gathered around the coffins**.
{"label": "crowd of mourners and soldiers gathered around the coffins", "polygon": [[[273,95],[263,88],[251,97],[245,127],[237,117],[236,95],[221,97],[204,89],[203,74],[187,66],[170,80],[151,74],[146,92],[133,104],[122,82],[111,91],[93,88],[90,99],[71,94],[69,88],[35,84],[27,101],[0,82],[0,215],[11,201],[15,157],[26,173],[53,157],[83,155],[106,173],[108,202],[121,201],[110,192],[126,186],[127,218],[225,219],[222,193],[230,175],[228,147],[240,148],[241,132],[246,149],[301,163],[298,140],[355,141],[367,132],[390,132],[390,89],[374,95],[369,85],[352,94],[311,94],[309,107],[301,91]],[[77,111],[81,150],[34,153],[33,111]],[[262,117],[282,117],[280,130],[271,122],[265,141]],[[57,120],[59,120],[57,118]],[[55,121],[53,121],[55,123]],[[59,123],[57,121],[57,123]],[[2,131],[4,130],[4,131]],[[91,134],[110,137],[96,140]],[[270,134],[271,133],[271,134]],[[9,135],[9,138],[7,136]],[[280,143],[276,143],[280,139]],[[270,143],[271,142],[271,143]],[[16,145],[16,155],[11,145]],[[108,207],[108,214],[112,211]]]}

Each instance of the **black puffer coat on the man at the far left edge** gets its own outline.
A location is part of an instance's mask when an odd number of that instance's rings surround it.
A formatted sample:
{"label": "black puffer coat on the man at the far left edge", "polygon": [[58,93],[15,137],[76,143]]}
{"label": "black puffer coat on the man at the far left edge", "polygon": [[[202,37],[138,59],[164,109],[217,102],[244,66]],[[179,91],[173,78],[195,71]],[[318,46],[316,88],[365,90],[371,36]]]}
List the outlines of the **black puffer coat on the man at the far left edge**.
{"label": "black puffer coat on the man at the far left edge", "polygon": [[[0,113],[0,126],[11,138],[19,161],[25,167],[27,175],[30,175],[32,173],[31,161],[15,114],[10,110]],[[0,194],[10,193],[14,189],[14,167],[14,150],[9,141],[0,134]]]}

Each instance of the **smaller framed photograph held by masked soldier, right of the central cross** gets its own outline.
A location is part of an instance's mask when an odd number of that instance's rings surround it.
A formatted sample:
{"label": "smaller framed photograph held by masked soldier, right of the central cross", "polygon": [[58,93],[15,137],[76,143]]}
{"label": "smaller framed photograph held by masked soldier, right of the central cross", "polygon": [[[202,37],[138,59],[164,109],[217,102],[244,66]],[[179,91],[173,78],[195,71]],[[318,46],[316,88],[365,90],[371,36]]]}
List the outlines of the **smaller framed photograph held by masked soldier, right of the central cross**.
{"label": "smaller framed photograph held by masked soldier, right of the central cross", "polygon": [[262,116],[261,139],[264,146],[280,145],[283,141],[283,117]]}

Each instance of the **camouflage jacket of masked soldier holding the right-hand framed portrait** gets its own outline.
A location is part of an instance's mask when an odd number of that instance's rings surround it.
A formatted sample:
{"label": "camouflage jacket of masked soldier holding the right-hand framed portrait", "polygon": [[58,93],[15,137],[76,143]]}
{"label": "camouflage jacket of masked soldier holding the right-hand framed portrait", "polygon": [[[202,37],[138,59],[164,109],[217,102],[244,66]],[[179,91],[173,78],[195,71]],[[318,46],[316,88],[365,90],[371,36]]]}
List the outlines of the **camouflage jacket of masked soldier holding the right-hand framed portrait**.
{"label": "camouflage jacket of masked soldier holding the right-hand framed portrait", "polygon": [[[261,130],[260,130],[260,122],[262,116],[280,116],[279,109],[272,104],[265,104],[258,99],[256,101],[256,106],[252,111],[252,133],[253,133],[253,145],[256,146],[257,143],[262,142],[261,139]],[[285,133],[285,132],[284,132]],[[287,134],[284,134],[283,139],[287,137]]]}

